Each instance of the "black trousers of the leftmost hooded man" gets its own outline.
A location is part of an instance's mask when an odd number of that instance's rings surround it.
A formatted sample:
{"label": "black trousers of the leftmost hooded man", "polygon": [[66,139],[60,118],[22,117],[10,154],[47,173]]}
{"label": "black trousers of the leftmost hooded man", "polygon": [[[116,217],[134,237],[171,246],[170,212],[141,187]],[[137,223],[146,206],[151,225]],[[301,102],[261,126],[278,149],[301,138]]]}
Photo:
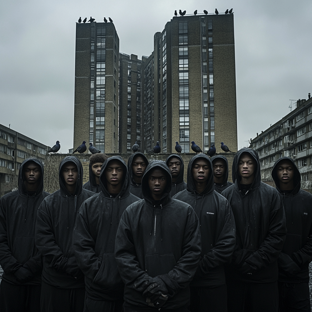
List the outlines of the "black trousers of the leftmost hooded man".
{"label": "black trousers of the leftmost hooded man", "polygon": [[1,312],[40,312],[41,286],[0,284]]}

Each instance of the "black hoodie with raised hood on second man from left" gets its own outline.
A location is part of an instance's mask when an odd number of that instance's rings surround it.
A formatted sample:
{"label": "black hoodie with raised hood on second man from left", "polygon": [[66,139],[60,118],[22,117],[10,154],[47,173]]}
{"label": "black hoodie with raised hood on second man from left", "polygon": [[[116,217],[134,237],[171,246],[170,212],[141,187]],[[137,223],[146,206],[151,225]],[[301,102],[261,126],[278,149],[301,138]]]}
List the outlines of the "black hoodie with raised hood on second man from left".
{"label": "black hoodie with raised hood on second man from left", "polygon": [[[71,195],[61,173],[65,163],[73,162],[78,169],[75,192]],[[83,169],[75,156],[65,157],[59,166],[60,189],[46,197],[37,212],[35,242],[43,261],[42,280],[57,288],[84,287],[72,250],[72,233],[81,204],[94,193],[82,188]]]}

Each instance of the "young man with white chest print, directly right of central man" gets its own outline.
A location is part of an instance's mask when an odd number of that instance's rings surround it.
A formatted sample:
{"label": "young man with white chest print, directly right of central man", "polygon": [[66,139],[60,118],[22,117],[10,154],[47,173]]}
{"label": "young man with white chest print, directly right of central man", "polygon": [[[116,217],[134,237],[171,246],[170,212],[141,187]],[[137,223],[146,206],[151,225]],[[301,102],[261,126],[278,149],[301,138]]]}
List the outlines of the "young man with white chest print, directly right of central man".
{"label": "young man with white chest print, directly right of central man", "polygon": [[202,253],[191,282],[191,312],[227,311],[224,263],[235,247],[235,221],[229,202],[213,189],[213,169],[205,154],[188,163],[188,187],[173,198],[191,205],[199,218]]}

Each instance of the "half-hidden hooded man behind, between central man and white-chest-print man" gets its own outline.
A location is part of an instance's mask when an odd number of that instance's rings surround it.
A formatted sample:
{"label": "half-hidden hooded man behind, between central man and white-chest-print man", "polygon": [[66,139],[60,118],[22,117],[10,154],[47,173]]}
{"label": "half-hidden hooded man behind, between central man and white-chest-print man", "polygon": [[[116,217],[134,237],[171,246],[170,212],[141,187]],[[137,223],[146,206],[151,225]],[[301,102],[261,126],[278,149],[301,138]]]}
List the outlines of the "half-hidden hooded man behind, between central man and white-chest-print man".
{"label": "half-hidden hooded man behind, between central man and white-chest-print man", "polygon": [[172,154],[166,159],[166,164],[172,176],[171,197],[186,189],[184,182],[184,163],[178,154]]}

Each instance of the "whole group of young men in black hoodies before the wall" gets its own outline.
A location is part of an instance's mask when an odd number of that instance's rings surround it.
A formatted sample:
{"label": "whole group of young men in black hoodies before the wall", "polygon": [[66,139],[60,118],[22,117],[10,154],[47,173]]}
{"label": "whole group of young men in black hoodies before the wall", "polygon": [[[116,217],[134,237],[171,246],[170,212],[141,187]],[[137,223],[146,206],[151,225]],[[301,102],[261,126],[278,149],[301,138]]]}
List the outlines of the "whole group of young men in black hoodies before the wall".
{"label": "whole group of young men in black hoodies before the wall", "polygon": [[253,149],[149,163],[134,153],[35,158],[0,198],[0,311],[311,311],[312,195],[283,157],[261,182]]}

